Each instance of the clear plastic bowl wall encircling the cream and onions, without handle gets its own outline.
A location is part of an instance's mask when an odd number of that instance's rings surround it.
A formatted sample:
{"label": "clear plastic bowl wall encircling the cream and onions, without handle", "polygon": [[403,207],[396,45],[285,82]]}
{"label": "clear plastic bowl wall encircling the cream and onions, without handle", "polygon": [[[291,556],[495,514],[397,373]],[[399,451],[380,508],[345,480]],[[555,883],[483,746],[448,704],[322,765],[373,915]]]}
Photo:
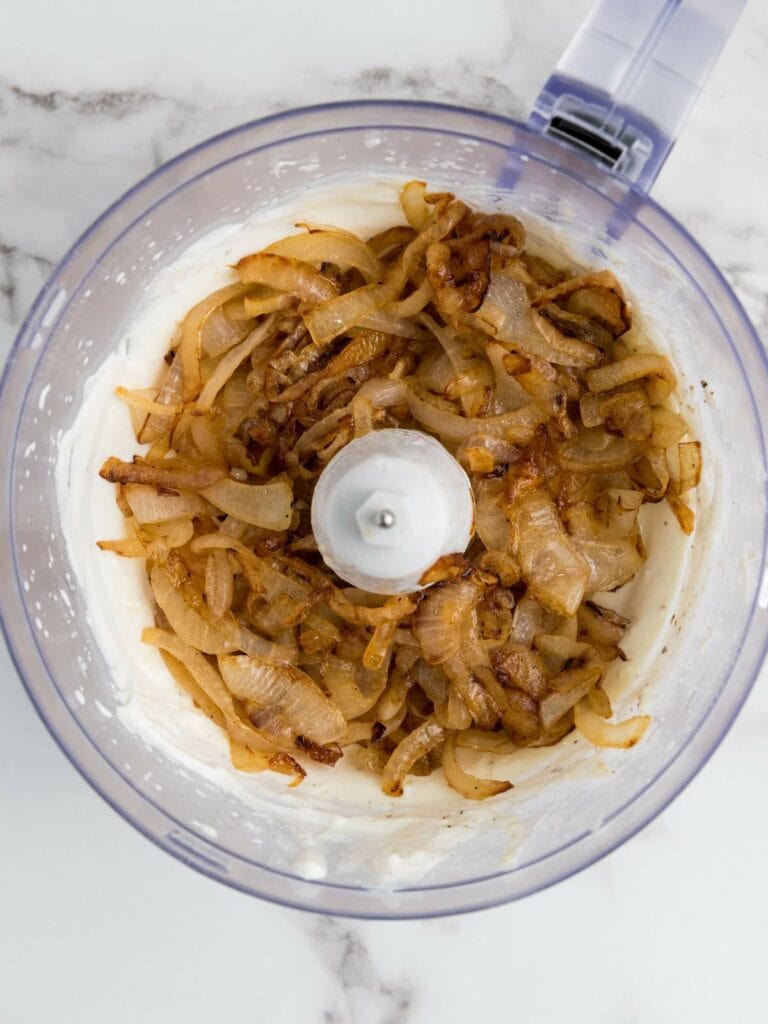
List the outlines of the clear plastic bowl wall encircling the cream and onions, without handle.
{"label": "clear plastic bowl wall encircling the cream and onions, without handle", "polygon": [[[553,780],[514,862],[503,861],[505,828],[492,819],[485,835],[394,891],[367,870],[374,845],[351,851],[343,827],[313,838],[324,847],[325,877],[300,877],[307,836],[296,820],[272,817],[268,802],[254,811],[209,783],[185,781],[98,710],[95,698],[114,710],[116,697],[68,562],[53,485],[57,439],[159,266],[214,227],[287,200],[300,205],[317,181],[382,173],[427,178],[480,204],[500,201],[534,223],[567,229],[586,262],[620,265],[681,371],[709,494],[643,742],[567,801]],[[617,241],[609,244],[606,225]],[[147,838],[206,874],[276,902],[361,916],[428,916],[517,899],[592,863],[658,814],[715,750],[755,681],[767,636],[765,410],[763,349],[712,261],[651,200],[559,144],[503,118],[421,103],[342,103],[268,118],[189,151],[124,196],[55,268],[24,324],[0,407],[8,439],[5,635],[32,700],[83,776]],[[505,795],[496,824],[524,822],[525,799]],[[212,809],[215,839],[206,835]],[[381,828],[401,813],[395,806]]]}

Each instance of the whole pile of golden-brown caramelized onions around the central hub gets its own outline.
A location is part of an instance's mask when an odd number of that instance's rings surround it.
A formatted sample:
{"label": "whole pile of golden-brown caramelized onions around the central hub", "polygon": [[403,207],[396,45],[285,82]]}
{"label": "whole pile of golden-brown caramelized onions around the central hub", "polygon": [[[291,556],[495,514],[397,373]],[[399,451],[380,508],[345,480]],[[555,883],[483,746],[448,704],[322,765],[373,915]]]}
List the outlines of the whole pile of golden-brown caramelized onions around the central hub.
{"label": "whole pile of golden-brown caramelized onions around the central hub", "polygon": [[[555,265],[511,214],[421,181],[400,202],[408,225],[371,239],[299,223],[244,256],[165,339],[154,386],[118,389],[151,447],[101,467],[127,536],[99,547],[146,560],[143,638],[238,770],[297,784],[346,749],[392,796],[441,764],[479,800],[510,783],[459,746],[642,735],[602,686],[631,624],[591,598],[640,570],[644,504],[693,529],[701,452],[669,408],[671,361],[625,339],[610,271]],[[310,517],[324,466],[381,427],[442,442],[476,512],[429,589],[389,598],[323,564]]]}

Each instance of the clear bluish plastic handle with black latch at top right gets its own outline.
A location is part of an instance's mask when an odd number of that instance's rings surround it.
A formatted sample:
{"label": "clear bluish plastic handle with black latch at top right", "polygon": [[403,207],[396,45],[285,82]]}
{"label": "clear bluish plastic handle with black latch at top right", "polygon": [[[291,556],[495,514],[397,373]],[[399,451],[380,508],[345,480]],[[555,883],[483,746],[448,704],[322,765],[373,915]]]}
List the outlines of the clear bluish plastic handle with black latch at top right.
{"label": "clear bluish plastic handle with black latch at top right", "polygon": [[746,0],[599,0],[528,126],[647,193]]}

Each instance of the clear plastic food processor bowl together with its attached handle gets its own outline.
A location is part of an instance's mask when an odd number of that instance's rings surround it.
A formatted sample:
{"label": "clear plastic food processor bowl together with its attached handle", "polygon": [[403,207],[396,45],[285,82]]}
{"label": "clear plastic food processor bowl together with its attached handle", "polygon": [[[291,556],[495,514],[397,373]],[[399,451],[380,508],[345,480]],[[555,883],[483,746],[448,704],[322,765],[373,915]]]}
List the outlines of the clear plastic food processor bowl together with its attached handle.
{"label": "clear plastic food processor bowl together with its attached handle", "polygon": [[[3,630],[67,757],[163,849],[226,885],[305,909],[374,918],[472,910],[550,886],[627,841],[723,738],[768,641],[768,372],[728,284],[648,189],[740,6],[598,4],[524,125],[399,101],[333,103],[244,125],[139,182],[52,271],[2,380]],[[140,740],[118,713],[53,479],[89,379],[160,268],[216,228],[286,203],[300,208],[318,182],[382,175],[423,178],[478,208],[514,212],[534,233],[563,240],[574,261],[613,269],[674,359],[681,411],[705,460],[685,586],[668,609],[664,653],[638,681],[653,718],[642,742],[615,756],[593,752],[599,770],[583,762],[567,786],[554,759],[536,792],[516,786],[447,813],[407,793],[371,814],[333,798],[331,782],[325,796],[302,796],[302,786],[289,793],[284,779],[265,776],[246,800]],[[434,855],[420,859],[424,850]]]}

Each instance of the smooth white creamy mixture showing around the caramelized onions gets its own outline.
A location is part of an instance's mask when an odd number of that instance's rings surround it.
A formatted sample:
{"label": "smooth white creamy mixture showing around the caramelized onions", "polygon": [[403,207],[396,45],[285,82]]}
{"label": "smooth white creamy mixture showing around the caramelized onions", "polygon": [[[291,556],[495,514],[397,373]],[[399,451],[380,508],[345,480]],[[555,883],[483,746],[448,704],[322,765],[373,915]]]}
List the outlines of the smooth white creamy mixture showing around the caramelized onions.
{"label": "smooth white creamy mixture showing around the caramelized onions", "polygon": [[[102,553],[96,541],[120,538],[125,531],[114,487],[98,477],[98,469],[109,456],[130,459],[137,447],[128,409],[115,397],[115,387],[141,388],[158,379],[179,321],[202,297],[236,280],[230,266],[241,256],[294,233],[297,220],[333,224],[362,237],[403,222],[398,185],[381,180],[362,187],[357,183],[317,188],[299,210],[275,209],[257,220],[221,227],[160,270],[114,352],[88,381],[77,419],[60,441],[56,466],[69,557],[86,597],[90,628],[112,674],[119,720],[178,766],[179,786],[195,785],[191,771],[222,795],[236,798],[241,810],[232,817],[246,817],[251,807],[275,819],[290,816],[292,826],[298,822],[304,829],[303,851],[292,867],[304,878],[325,876],[329,837],[370,839],[375,834],[375,854],[360,871],[382,886],[418,880],[489,824],[507,839],[506,853],[502,850],[500,857],[514,858],[536,820],[537,794],[544,786],[564,785],[566,776],[607,770],[615,752],[598,752],[577,739],[495,761],[477,758],[480,770],[514,780],[511,814],[504,811],[506,795],[468,807],[439,773],[409,778],[406,795],[392,801],[380,792],[373,775],[356,770],[346,758],[333,769],[310,764],[307,778],[297,788],[289,788],[283,776],[236,772],[224,734],[177,688],[158,651],[139,641],[141,630],[153,625],[143,562]],[[87,519],[80,518],[80,509],[90,511]],[[607,684],[622,714],[642,705],[643,688],[653,679],[670,609],[679,599],[690,555],[690,543],[666,505],[646,506],[641,516],[648,560],[635,581],[604,602],[633,621],[624,643],[629,660],[611,668]],[[110,712],[104,709],[104,714]],[[621,752],[621,756],[632,755]],[[525,800],[525,813],[518,814],[516,809]],[[197,824],[203,835],[215,837],[211,821]]]}

